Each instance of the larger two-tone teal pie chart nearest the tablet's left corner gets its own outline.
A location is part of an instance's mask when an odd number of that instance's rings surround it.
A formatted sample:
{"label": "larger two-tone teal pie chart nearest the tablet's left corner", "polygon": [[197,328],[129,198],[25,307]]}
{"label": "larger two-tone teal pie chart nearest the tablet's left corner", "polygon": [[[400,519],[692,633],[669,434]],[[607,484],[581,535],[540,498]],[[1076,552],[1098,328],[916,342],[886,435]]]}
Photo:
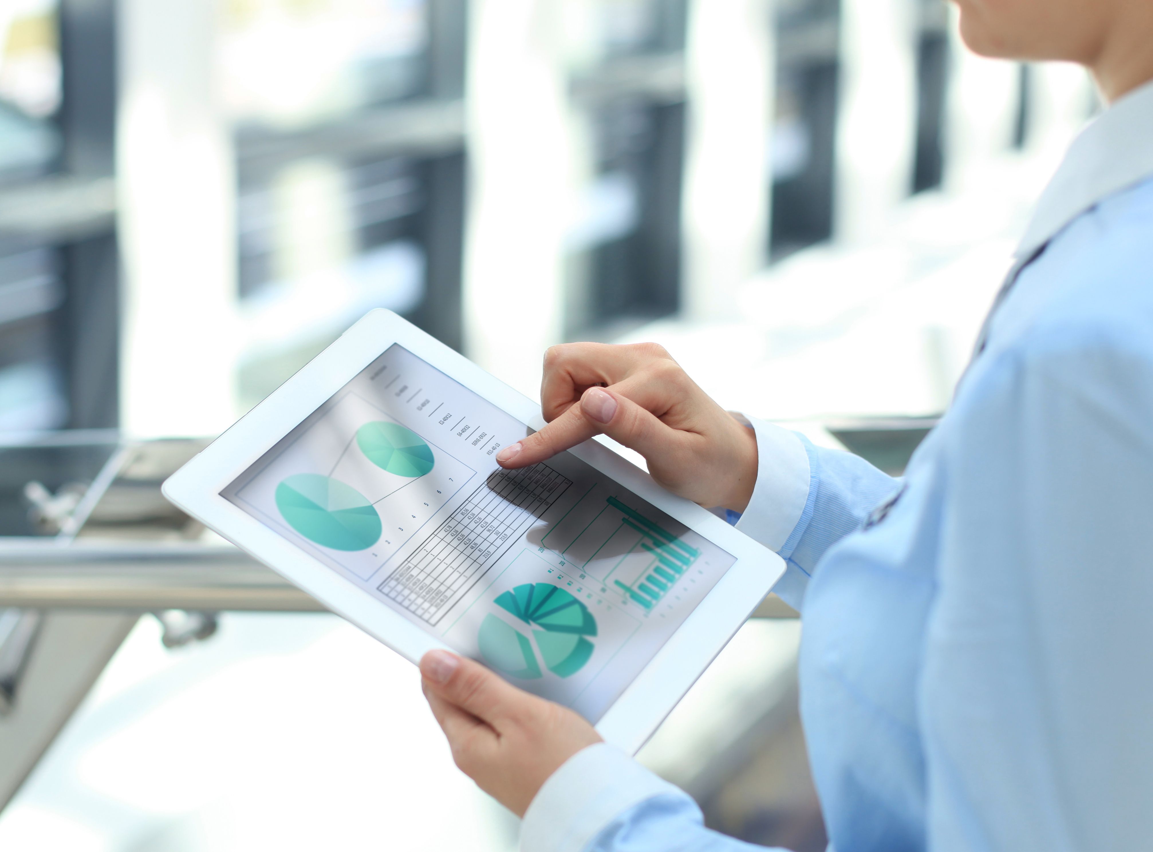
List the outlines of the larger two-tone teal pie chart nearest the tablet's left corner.
{"label": "larger two-tone teal pie chart nearest the tablet's left corner", "polygon": [[277,486],[277,509],[293,530],[333,550],[364,550],[380,538],[380,516],[349,485],[319,473],[296,473]]}

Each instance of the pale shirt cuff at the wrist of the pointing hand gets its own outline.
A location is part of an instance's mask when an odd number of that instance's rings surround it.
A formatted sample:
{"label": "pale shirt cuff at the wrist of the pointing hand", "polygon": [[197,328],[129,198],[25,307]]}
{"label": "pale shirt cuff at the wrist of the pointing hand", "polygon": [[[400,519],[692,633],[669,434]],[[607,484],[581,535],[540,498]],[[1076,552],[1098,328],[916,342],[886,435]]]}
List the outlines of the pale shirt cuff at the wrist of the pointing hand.
{"label": "pale shirt cuff at the wrist of the pointing hand", "polygon": [[748,423],[756,433],[756,485],[736,526],[776,553],[808,502],[808,452],[797,433],[764,420]]}

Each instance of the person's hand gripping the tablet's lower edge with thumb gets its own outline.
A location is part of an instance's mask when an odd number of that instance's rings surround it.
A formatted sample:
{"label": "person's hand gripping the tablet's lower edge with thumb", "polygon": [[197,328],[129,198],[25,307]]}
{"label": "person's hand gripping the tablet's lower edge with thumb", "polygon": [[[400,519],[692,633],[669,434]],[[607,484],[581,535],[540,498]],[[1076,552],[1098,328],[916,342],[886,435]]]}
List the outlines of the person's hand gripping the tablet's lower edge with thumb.
{"label": "person's hand gripping the tablet's lower edge with thumb", "polygon": [[457,766],[518,816],[562,763],[601,741],[572,710],[447,651],[421,659],[421,678]]}

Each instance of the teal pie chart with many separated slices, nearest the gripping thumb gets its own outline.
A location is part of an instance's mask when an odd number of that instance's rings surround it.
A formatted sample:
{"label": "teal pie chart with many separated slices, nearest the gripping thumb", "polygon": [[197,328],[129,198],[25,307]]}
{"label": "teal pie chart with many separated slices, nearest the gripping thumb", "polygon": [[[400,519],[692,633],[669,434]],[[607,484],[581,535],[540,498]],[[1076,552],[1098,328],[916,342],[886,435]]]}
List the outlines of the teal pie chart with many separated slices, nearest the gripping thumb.
{"label": "teal pie chart with many separated slices, nearest the gripping thumb", "polygon": [[528,637],[492,614],[484,616],[477,642],[481,656],[495,669],[523,680],[543,677],[544,668],[572,677],[593,656],[596,618],[583,603],[551,583],[526,583],[497,596],[495,603],[533,627],[541,660]]}

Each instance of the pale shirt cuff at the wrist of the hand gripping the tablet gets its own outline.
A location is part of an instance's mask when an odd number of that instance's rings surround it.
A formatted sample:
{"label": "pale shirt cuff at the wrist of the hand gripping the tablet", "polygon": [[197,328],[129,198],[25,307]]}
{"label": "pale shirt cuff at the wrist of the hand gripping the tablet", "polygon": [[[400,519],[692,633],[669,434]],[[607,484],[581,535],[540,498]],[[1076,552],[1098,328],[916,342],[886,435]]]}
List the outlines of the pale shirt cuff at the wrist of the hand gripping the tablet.
{"label": "pale shirt cuff at the wrist of the hand gripping the tablet", "polygon": [[588,746],[549,776],[529,804],[521,852],[581,852],[624,812],[670,793],[685,796],[608,743]]}

